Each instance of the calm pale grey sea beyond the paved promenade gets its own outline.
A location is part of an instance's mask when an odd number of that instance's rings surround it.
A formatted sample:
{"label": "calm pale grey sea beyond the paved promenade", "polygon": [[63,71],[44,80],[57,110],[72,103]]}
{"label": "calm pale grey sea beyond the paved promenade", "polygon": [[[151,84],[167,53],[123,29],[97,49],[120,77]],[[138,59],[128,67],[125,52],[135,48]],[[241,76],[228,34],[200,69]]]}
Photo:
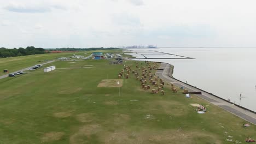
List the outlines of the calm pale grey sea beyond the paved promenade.
{"label": "calm pale grey sea beyond the paved promenade", "polygon": [[[129,49],[143,58],[177,57],[157,55],[155,51],[195,59],[138,59],[174,65],[173,76],[238,105],[256,111],[256,47]],[[152,55],[153,54],[153,55]],[[240,94],[242,98],[240,99]]]}

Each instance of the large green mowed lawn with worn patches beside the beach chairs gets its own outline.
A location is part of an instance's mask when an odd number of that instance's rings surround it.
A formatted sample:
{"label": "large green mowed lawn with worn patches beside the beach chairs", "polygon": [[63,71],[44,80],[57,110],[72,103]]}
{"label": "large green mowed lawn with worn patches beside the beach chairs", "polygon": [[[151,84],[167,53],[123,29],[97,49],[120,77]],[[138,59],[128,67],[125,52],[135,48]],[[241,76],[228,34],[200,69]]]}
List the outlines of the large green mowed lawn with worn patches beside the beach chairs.
{"label": "large green mowed lawn with worn patches beside the beach chairs", "polygon": [[[135,62],[125,64],[135,69]],[[255,125],[242,128],[243,119],[195,96],[172,93],[167,84],[165,95],[151,94],[131,74],[123,79],[120,96],[118,87],[97,87],[102,80],[118,79],[124,65],[91,59],[48,65],[57,69],[0,80],[0,143],[245,143],[247,136],[256,138]],[[198,114],[190,105],[199,103],[208,112]]]}

